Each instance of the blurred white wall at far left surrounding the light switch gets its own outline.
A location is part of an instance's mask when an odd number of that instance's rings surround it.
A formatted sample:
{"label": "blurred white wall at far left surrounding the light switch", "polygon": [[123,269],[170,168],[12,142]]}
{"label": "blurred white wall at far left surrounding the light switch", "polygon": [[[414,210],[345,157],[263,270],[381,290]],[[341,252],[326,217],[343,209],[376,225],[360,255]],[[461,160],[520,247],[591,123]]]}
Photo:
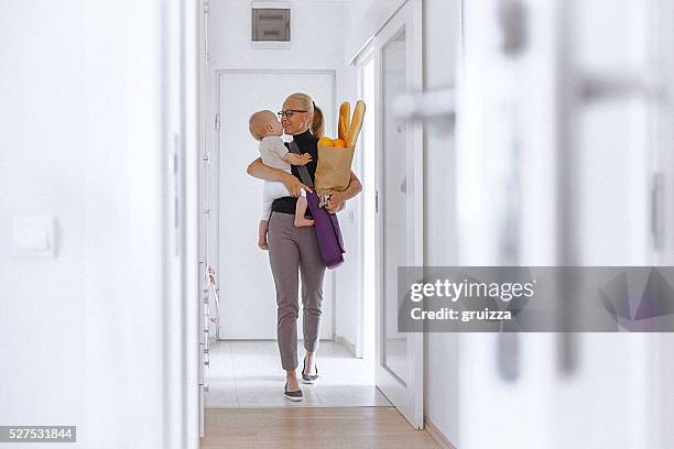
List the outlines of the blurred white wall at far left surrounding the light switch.
{"label": "blurred white wall at far left surrounding the light switch", "polygon": [[[0,423],[166,447],[159,2],[0,10]],[[42,212],[57,256],[14,259],[12,218]]]}

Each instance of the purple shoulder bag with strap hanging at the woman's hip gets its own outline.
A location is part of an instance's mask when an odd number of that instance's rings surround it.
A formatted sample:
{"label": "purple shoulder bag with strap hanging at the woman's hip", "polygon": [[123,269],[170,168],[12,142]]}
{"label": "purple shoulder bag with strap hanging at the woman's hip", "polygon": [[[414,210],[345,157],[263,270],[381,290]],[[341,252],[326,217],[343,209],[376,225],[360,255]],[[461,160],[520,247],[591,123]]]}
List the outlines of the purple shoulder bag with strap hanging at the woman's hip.
{"label": "purple shoulder bag with strap hanging at the woman's hip", "polygon": [[[290,151],[297,154],[301,153],[295,142],[290,143]],[[314,183],[312,183],[308,169],[306,169],[305,166],[298,166],[297,172],[300,173],[302,182],[313,189]],[[341,238],[341,230],[339,229],[337,216],[318,206],[318,195],[315,191],[307,191],[306,202],[314,218],[320,259],[323,259],[323,263],[327,269],[336,269],[344,262],[343,254],[346,252],[344,250],[344,240]]]}

